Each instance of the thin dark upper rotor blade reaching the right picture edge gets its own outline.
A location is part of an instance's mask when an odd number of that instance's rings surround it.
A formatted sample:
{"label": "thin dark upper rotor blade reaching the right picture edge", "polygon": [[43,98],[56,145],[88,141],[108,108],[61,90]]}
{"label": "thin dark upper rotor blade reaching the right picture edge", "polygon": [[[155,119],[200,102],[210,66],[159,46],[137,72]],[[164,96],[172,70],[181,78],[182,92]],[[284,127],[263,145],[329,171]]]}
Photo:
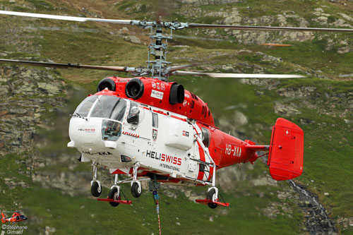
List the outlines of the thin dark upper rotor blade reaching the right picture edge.
{"label": "thin dark upper rotor blade reaching the right picture edge", "polygon": [[233,28],[234,30],[353,32],[352,28],[299,28],[299,27],[274,27],[274,26],[253,26],[253,25],[212,25],[212,24],[199,24],[199,23],[189,23],[188,28]]}

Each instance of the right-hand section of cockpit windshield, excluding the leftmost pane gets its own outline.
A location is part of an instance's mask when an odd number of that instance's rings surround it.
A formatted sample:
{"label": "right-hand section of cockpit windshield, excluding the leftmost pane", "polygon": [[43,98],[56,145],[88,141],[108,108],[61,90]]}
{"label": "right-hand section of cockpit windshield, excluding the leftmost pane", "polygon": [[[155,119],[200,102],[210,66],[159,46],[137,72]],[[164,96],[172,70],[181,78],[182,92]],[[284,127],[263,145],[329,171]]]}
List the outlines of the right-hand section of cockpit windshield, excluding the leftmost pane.
{"label": "right-hand section of cockpit windshield, excluding the leftmost pane", "polygon": [[97,98],[91,117],[114,119],[122,121],[126,110],[126,101],[110,95],[102,95]]}

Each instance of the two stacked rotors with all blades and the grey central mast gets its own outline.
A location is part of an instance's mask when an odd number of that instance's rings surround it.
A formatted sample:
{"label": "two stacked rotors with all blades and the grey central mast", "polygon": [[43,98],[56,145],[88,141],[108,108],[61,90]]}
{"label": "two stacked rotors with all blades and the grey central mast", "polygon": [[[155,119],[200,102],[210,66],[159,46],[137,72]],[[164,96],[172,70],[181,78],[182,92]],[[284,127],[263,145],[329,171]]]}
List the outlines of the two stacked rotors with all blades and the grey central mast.
{"label": "two stacked rotors with all blades and the grey central mast", "polygon": [[[172,30],[181,30],[185,28],[232,28],[234,30],[270,30],[270,31],[319,31],[319,32],[353,32],[352,28],[293,28],[293,27],[273,27],[273,26],[254,26],[254,25],[213,25],[202,23],[181,23],[177,21],[165,22],[162,20],[114,20],[102,18],[84,18],[73,16],[56,16],[39,13],[25,13],[16,11],[0,11],[2,15],[24,16],[33,18],[47,18],[52,20],[70,20],[76,22],[102,22],[115,23],[121,25],[135,25],[140,28],[149,28],[151,30],[151,42],[148,46],[148,66],[128,67],[128,66],[92,66],[81,64],[57,64],[40,61],[23,61],[12,59],[0,59],[0,62],[11,64],[23,64],[28,66],[43,66],[51,68],[84,68],[97,69],[105,71],[121,71],[132,73],[135,76],[149,76],[167,81],[169,76],[210,76],[212,78],[303,78],[304,76],[290,74],[252,74],[252,73],[207,73],[181,71],[188,66],[170,66],[171,62],[166,60],[167,40],[172,40]],[[169,36],[162,35],[162,28],[171,30]],[[152,59],[154,57],[154,59]]]}

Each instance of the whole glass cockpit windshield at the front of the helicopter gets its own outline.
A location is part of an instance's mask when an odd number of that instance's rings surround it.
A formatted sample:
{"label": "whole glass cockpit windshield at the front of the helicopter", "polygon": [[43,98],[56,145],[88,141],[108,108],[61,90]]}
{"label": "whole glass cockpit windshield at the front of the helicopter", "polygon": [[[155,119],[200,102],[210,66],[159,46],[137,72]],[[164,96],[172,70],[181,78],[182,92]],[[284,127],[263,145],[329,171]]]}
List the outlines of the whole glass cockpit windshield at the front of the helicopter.
{"label": "whole glass cockpit windshield at the front of the helicopter", "polygon": [[87,97],[76,109],[74,116],[100,117],[122,121],[126,111],[126,101],[110,95],[91,95]]}

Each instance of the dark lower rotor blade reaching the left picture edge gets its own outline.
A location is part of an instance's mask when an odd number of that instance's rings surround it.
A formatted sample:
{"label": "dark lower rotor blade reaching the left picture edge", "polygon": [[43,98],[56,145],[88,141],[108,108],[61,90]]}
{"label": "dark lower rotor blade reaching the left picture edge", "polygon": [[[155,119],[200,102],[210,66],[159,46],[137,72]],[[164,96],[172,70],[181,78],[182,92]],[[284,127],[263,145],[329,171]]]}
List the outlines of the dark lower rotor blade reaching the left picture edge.
{"label": "dark lower rotor blade reaching the left picture edge", "polygon": [[20,61],[15,59],[0,59],[0,63],[11,63],[11,64],[23,64],[28,66],[41,66],[49,68],[85,68],[85,69],[97,69],[97,70],[107,70],[107,71],[126,71],[126,67],[122,66],[91,66],[83,64],[59,64],[59,63],[47,63],[39,61]]}

